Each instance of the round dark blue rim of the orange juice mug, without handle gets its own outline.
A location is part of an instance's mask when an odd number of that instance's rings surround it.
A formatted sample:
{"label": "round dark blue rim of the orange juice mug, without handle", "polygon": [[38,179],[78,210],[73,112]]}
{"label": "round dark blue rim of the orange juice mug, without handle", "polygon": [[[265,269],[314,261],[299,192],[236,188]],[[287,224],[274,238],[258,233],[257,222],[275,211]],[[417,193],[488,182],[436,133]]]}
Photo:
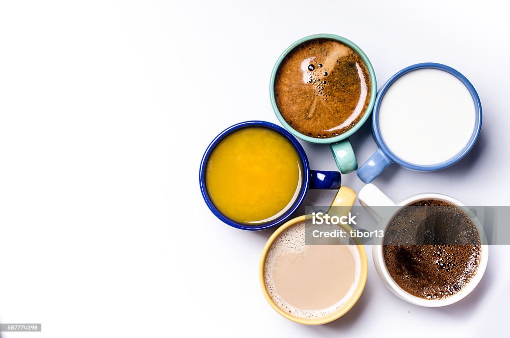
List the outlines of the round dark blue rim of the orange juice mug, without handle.
{"label": "round dark blue rim of the orange juice mug, without handle", "polygon": [[[253,226],[232,221],[231,219],[229,219],[225,215],[223,215],[223,213],[221,213],[221,211],[218,208],[216,208],[216,206],[212,202],[211,198],[209,197],[209,194],[207,192],[207,187],[206,187],[206,166],[207,166],[206,164],[209,159],[209,156],[211,155],[211,152],[225,136],[227,136],[228,134],[231,134],[234,131],[237,131],[239,129],[246,128],[246,127],[269,128],[269,129],[272,129],[272,130],[278,132],[279,134],[285,136],[293,144],[294,148],[296,149],[296,151],[299,155],[299,159],[301,160],[302,171],[303,171],[303,179],[301,181],[301,188],[300,188],[301,190],[299,191],[299,195],[298,195],[296,201],[294,201],[294,204],[292,204],[292,206],[290,208],[288,208],[287,211],[285,211],[285,213],[283,215],[279,216],[274,221],[270,221],[270,222],[263,223],[260,225],[253,225]],[[207,150],[203,154],[202,160],[200,162],[199,182],[200,182],[200,191],[202,193],[203,200],[206,202],[207,206],[212,211],[212,213],[220,221],[222,221],[223,223],[225,223],[227,225],[230,225],[231,227],[237,228],[237,229],[248,230],[248,231],[265,230],[265,229],[269,229],[276,225],[286,222],[288,220],[288,218],[299,208],[299,206],[303,202],[305,196],[307,195],[307,192],[309,189],[310,164],[308,162],[307,154],[304,152],[304,149],[301,146],[301,144],[287,130],[285,130],[284,128],[277,126],[271,122],[262,121],[262,120],[249,120],[249,121],[237,123],[233,126],[226,128],[211,141],[211,143],[207,147]]]}

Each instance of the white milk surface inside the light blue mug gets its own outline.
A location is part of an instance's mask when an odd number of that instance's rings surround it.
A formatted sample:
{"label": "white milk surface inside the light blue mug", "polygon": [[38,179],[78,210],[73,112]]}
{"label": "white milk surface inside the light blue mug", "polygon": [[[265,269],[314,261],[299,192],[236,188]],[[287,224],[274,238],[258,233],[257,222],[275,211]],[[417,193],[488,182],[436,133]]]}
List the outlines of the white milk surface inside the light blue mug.
{"label": "white milk surface inside the light blue mug", "polygon": [[470,140],[475,106],[466,86],[453,75],[417,69],[388,88],[378,123],[393,154],[413,164],[438,164],[461,152]]}

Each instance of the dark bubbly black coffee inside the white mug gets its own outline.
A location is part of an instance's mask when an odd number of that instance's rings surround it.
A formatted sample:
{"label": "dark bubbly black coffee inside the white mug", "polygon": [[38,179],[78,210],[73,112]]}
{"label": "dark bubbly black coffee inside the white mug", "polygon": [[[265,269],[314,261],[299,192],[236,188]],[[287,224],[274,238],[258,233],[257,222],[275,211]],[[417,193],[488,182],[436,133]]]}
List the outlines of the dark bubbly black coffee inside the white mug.
{"label": "dark bubbly black coffee inside the white mug", "polygon": [[480,236],[469,216],[440,200],[421,200],[399,211],[384,238],[391,277],[407,293],[444,299],[460,292],[480,264]]}

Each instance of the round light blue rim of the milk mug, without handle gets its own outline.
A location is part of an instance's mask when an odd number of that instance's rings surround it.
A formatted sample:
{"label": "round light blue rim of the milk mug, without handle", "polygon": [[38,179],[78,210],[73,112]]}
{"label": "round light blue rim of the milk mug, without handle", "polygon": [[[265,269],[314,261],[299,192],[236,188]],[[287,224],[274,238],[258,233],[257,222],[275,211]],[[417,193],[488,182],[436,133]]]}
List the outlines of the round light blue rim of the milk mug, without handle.
{"label": "round light blue rim of the milk mug, without handle", "polygon": [[[384,94],[388,90],[388,88],[395,82],[398,78],[403,76],[404,74],[409,73],[410,71],[417,70],[417,69],[423,69],[423,68],[431,68],[431,69],[438,69],[442,71],[446,71],[446,73],[449,73],[456,77],[458,80],[460,80],[464,86],[468,89],[471,98],[473,100],[473,104],[475,106],[475,126],[473,128],[473,133],[471,134],[471,138],[467,142],[466,146],[458,152],[455,156],[452,158],[441,162],[437,164],[430,164],[430,165],[421,165],[421,164],[414,164],[411,162],[407,162],[400,157],[396,156],[387,146],[385,141],[382,139],[380,130],[379,130],[379,108],[382,98],[384,98]],[[411,170],[416,171],[435,171],[440,170],[443,168],[446,168],[458,161],[460,161],[464,156],[466,156],[469,151],[474,147],[476,140],[478,139],[478,136],[480,134],[481,130],[481,122],[482,122],[482,109],[481,109],[481,102],[480,98],[478,96],[478,93],[476,92],[476,89],[474,86],[469,82],[469,80],[462,75],[459,71],[456,69],[447,66],[445,64],[441,63],[435,63],[435,62],[424,62],[424,63],[417,63],[413,64],[411,66],[407,66],[403,69],[400,69],[395,73],[377,92],[377,98],[375,100],[374,109],[372,112],[372,135],[374,137],[375,142],[377,143],[377,146],[384,152],[387,156],[389,156],[394,162],[407,167]]]}

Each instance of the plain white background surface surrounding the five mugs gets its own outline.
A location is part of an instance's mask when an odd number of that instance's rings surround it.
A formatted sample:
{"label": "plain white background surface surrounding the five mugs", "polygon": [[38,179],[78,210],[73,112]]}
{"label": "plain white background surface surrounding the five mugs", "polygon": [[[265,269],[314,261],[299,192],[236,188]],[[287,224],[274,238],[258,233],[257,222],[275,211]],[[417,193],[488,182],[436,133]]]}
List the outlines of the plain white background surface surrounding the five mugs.
{"label": "plain white background surface surrounding the five mugs", "polygon": [[[259,286],[271,232],[218,221],[198,166],[224,128],[277,123],[274,62],[303,36],[333,33],[366,52],[379,86],[404,66],[441,62],[470,79],[483,105],[480,139],[460,163],[435,173],[392,165],[376,185],[395,200],[431,191],[510,205],[509,31],[507,10],[486,2],[2,2],[0,322],[43,325],[2,337],[502,331],[505,246],[491,247],[469,297],[435,309],[393,296],[367,250],[367,286],[352,310],[319,327],[287,321]],[[370,124],[351,142],[363,163],[376,149]],[[335,170],[327,146],[303,147],[312,168]],[[305,204],[334,194],[310,191]]]}

